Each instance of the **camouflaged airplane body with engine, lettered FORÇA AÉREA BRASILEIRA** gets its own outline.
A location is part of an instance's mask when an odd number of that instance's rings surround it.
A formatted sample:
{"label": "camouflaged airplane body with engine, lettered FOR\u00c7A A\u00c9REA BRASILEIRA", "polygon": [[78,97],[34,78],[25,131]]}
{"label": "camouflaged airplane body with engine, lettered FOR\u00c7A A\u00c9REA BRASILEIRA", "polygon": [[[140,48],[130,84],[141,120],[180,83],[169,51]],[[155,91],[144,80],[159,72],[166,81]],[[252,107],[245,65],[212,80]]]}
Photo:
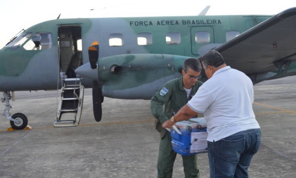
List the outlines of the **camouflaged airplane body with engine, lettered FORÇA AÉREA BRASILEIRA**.
{"label": "camouflaged airplane body with engine, lettered FOR\u00c7A A\u00c9REA BRASILEIRA", "polygon": [[[271,16],[190,16],[57,19],[34,25],[23,33],[48,32],[52,46],[44,50],[4,47],[0,50],[0,91],[52,90],[61,87],[58,29],[81,27],[82,64],[89,62],[88,47],[99,42],[98,76],[103,95],[121,99],[150,99],[166,81],[181,76],[180,67],[189,57],[199,57],[226,42],[226,32],[239,34]],[[197,43],[196,33],[209,33],[209,41]],[[152,36],[151,44],[139,45],[139,34]],[[178,33],[178,44],[168,44],[166,35]],[[119,34],[122,44],[110,46],[110,36]],[[12,41],[13,42],[13,41]],[[111,73],[114,65],[122,67]],[[205,80],[205,78],[204,78]],[[59,84],[59,86],[58,86]],[[86,88],[91,78],[83,78]]]}

